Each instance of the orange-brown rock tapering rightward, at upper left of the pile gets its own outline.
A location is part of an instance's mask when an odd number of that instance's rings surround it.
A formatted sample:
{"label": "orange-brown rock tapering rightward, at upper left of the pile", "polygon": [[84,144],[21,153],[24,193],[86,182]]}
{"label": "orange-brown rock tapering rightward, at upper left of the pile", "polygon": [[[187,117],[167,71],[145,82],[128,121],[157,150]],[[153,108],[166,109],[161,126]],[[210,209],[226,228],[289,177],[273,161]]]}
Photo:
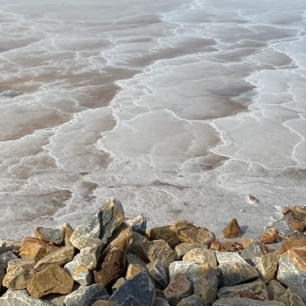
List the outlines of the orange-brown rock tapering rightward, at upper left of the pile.
{"label": "orange-brown rock tapering rightward, at upper left of the pile", "polygon": [[60,246],[50,242],[41,241],[37,238],[27,237],[24,238],[21,248],[21,258],[34,258],[35,262],[43,259],[48,254],[58,250]]}

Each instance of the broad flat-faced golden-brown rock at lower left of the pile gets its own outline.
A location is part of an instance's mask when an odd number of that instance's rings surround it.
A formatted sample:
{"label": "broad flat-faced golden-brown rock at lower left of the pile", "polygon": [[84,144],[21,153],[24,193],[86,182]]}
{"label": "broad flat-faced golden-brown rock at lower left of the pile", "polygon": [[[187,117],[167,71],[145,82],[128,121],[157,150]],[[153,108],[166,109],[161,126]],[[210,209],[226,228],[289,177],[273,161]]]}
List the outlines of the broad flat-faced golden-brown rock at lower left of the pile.
{"label": "broad flat-faced golden-brown rock at lower left of the pile", "polygon": [[28,292],[40,298],[49,293],[68,294],[73,289],[73,279],[60,266],[52,264],[35,274],[28,287]]}

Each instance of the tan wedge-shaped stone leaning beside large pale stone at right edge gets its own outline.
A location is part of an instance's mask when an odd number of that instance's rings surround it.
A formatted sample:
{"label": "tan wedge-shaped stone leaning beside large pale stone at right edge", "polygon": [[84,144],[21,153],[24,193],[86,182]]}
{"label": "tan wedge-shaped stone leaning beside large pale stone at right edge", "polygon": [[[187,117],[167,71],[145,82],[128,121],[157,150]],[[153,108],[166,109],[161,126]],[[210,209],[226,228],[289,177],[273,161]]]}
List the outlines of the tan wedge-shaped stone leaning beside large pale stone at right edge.
{"label": "tan wedge-shaped stone leaning beside large pale stone at right edge", "polygon": [[282,252],[280,250],[276,250],[274,252],[265,254],[257,262],[255,269],[265,284],[269,283],[274,277],[281,253]]}

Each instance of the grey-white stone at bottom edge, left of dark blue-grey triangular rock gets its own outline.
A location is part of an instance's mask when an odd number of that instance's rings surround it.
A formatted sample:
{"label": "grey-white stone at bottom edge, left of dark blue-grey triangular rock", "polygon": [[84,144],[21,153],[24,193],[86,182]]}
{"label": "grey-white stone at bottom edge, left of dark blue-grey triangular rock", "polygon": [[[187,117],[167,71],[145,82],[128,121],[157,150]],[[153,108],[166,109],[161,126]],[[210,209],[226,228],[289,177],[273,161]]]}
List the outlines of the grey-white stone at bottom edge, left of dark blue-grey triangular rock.
{"label": "grey-white stone at bottom edge, left of dark blue-grey triangular rock", "polygon": [[66,306],[90,306],[97,300],[108,300],[110,295],[102,284],[80,286],[65,298]]}

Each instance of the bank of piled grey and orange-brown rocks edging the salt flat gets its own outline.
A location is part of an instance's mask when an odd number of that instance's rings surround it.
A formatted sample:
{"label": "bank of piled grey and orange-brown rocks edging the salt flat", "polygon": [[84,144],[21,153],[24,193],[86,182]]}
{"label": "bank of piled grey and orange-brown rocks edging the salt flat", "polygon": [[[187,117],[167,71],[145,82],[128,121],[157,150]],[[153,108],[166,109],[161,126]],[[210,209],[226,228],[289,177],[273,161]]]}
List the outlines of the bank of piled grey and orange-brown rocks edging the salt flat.
{"label": "bank of piled grey and orange-brown rocks edging the salt flat", "polygon": [[[286,231],[219,242],[186,220],[147,231],[111,198],[74,231],[0,239],[0,305],[305,306],[306,207],[283,215]],[[222,234],[241,237],[237,220]]]}

